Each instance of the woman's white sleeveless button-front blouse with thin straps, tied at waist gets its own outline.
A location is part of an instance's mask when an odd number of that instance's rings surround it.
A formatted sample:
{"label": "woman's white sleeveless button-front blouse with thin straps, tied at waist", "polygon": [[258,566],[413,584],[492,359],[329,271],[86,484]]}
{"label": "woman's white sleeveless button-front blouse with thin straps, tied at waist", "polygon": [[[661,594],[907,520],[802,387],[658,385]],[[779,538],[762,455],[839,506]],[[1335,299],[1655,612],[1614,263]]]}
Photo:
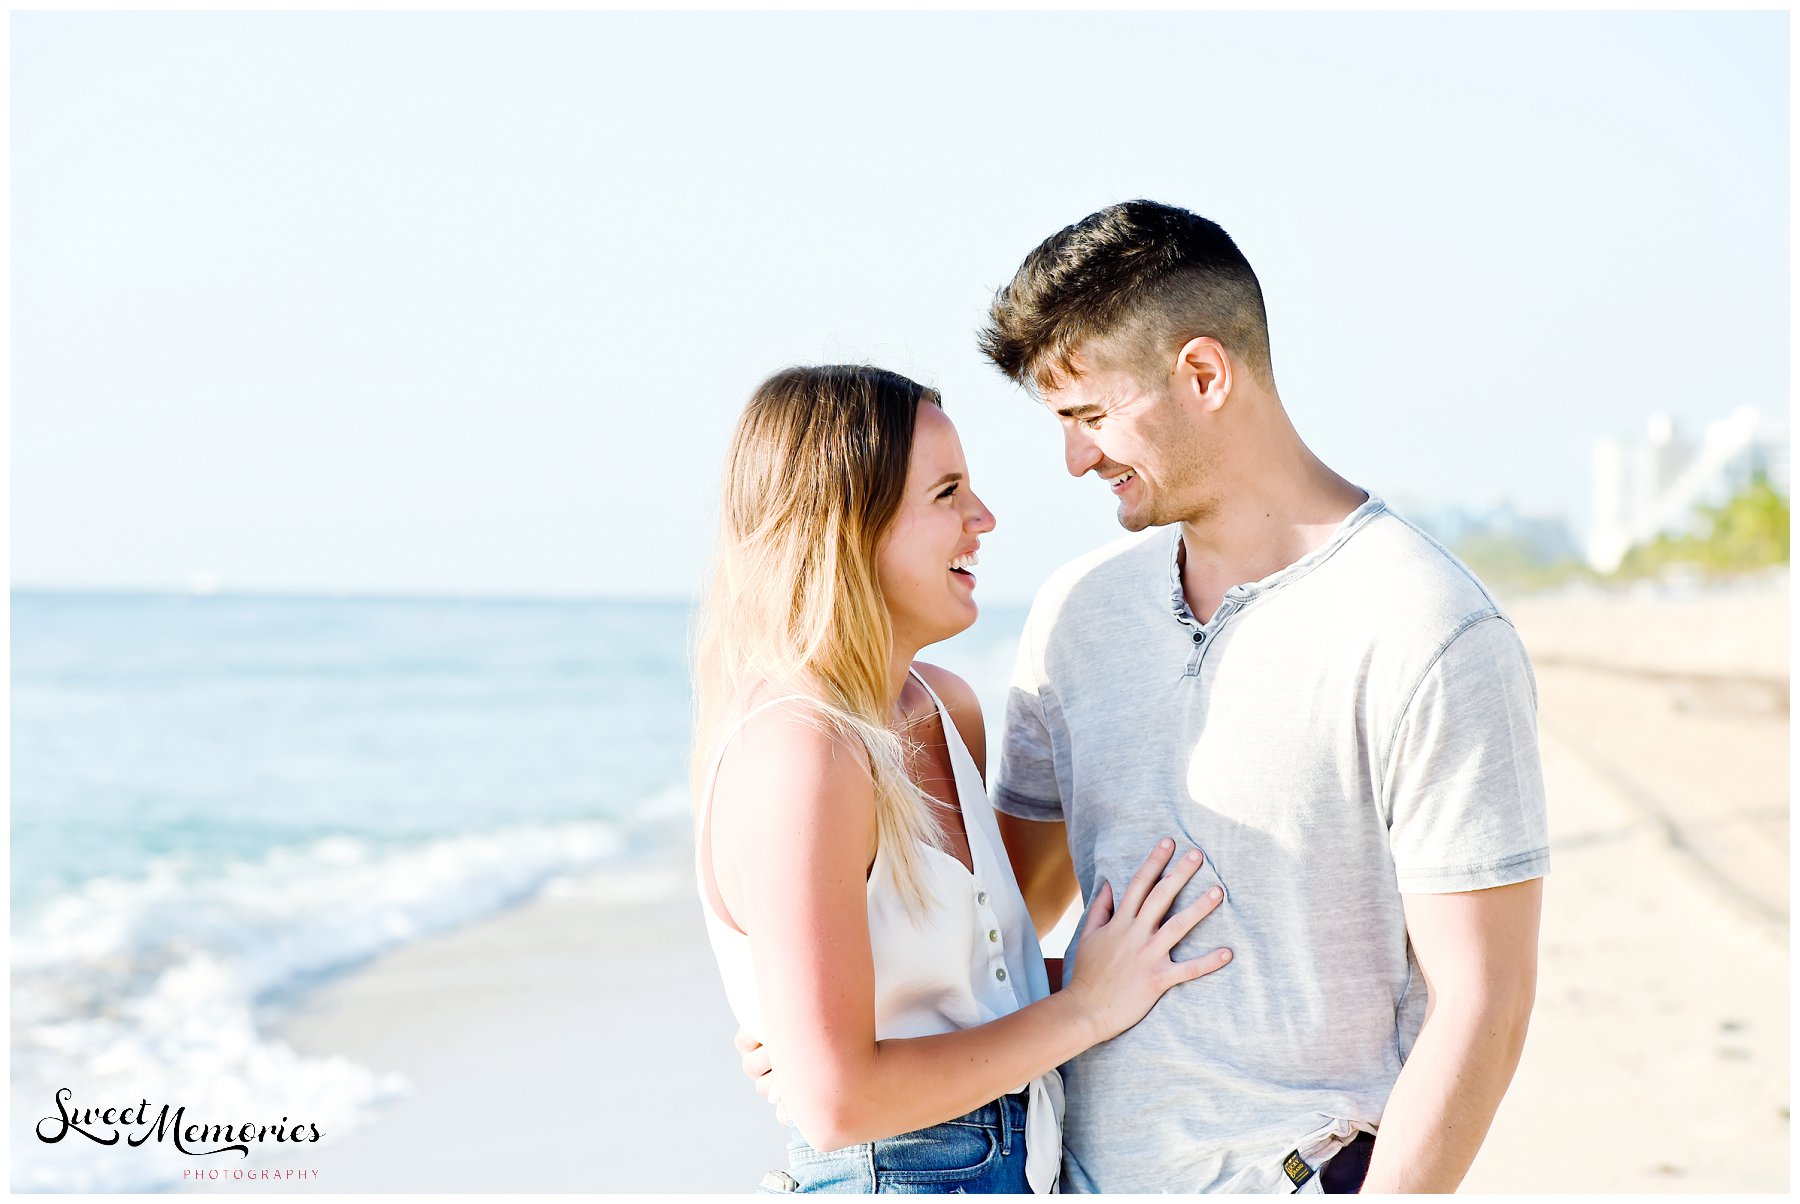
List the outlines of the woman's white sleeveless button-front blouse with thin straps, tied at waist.
{"label": "woman's white sleeveless button-front blouse with thin straps, tied at waist", "polygon": [[[877,1040],[974,1028],[1049,995],[1037,930],[1006,860],[981,774],[943,700],[923,677],[916,671],[913,677],[925,686],[943,723],[974,873],[943,849],[922,846],[927,909],[914,923],[902,902],[887,851],[877,849],[868,889]],[[700,795],[700,833],[707,831],[711,821],[713,781],[725,745],[751,716],[796,698],[806,700],[805,695],[787,695],[752,707],[720,738]],[[972,804],[972,799],[979,803]],[[725,923],[707,898],[711,867],[700,864],[698,842],[695,869],[706,932],[725,979],[725,999],[743,1031],[760,1037],[763,1015],[751,963],[751,938]],[[1049,1071],[1013,1091],[1024,1089],[1031,1092],[1026,1112],[1026,1177],[1033,1191],[1055,1191],[1062,1166],[1062,1080],[1057,1071]]]}

